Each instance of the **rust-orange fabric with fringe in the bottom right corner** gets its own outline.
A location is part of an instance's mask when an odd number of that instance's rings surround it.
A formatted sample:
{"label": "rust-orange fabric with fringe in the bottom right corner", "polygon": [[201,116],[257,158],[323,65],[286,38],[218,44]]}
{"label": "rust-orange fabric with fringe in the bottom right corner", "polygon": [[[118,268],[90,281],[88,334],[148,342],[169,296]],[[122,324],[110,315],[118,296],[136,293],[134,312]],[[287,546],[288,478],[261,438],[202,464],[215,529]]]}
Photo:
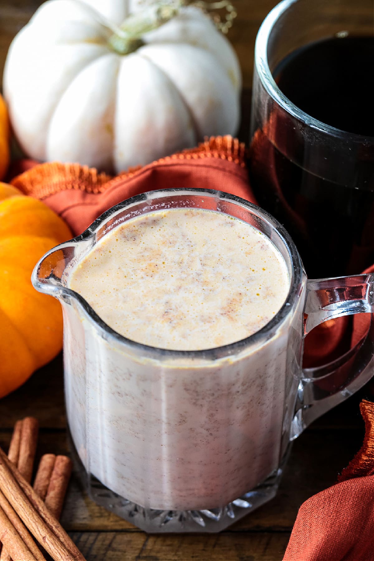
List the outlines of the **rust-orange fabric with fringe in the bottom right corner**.
{"label": "rust-orange fabric with fringe in the bottom right corner", "polygon": [[374,403],[360,405],[366,434],[339,483],[305,501],[283,561],[373,561]]}

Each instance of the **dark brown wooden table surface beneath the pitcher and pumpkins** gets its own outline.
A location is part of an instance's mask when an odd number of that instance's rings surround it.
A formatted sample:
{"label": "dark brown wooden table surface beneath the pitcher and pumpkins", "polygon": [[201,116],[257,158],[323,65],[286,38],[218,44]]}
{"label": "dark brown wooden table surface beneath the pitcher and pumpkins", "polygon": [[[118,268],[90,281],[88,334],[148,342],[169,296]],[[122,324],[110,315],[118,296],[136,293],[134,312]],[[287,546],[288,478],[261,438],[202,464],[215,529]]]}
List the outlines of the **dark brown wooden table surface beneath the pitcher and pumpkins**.
{"label": "dark brown wooden table surface beneath the pitcher and pumpkins", "polygon": [[[105,0],[102,0],[103,2]],[[41,2],[0,0],[0,72],[13,36]],[[235,0],[238,18],[229,38],[243,68],[245,91],[241,136],[248,130],[254,39],[274,0]],[[91,502],[73,474],[62,524],[87,561],[277,561],[282,559],[300,504],[334,484],[362,442],[358,396],[314,422],[295,442],[279,490],[272,502],[218,535],[146,535]],[[69,454],[63,404],[61,356],[38,371],[19,390],[0,402],[0,445],[7,449],[15,421],[38,418],[38,456]]]}

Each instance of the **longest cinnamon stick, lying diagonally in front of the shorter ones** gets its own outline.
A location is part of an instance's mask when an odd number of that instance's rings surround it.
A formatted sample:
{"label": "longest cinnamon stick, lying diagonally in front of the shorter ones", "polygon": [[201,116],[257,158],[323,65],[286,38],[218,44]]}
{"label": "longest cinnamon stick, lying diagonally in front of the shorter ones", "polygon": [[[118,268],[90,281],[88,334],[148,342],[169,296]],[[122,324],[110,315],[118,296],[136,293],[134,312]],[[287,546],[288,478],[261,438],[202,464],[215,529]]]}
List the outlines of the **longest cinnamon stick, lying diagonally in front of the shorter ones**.
{"label": "longest cinnamon stick, lying diagonally in front of the shorter ones", "polygon": [[22,522],[54,561],[85,561],[60,523],[1,448],[0,488]]}

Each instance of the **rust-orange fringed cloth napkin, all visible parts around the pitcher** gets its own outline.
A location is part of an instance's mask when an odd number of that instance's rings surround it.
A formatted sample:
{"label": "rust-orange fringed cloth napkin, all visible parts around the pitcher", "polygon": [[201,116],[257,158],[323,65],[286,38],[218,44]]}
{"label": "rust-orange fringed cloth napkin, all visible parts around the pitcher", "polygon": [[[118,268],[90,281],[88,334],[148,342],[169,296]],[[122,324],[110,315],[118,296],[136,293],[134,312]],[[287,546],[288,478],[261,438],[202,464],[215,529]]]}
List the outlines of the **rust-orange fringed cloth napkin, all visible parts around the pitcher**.
{"label": "rust-orange fringed cloth napkin, all visible parts around the pitcher", "polygon": [[[216,137],[198,148],[130,169],[114,178],[78,164],[21,160],[13,164],[11,173],[20,174],[11,183],[26,195],[43,200],[79,234],[104,210],[155,189],[216,189],[256,204],[248,181],[247,157],[245,146],[238,140]],[[373,270],[374,265],[370,272]],[[350,339],[354,346],[366,336],[368,316],[355,316],[352,335],[347,326],[348,320],[340,318],[314,329],[305,339],[304,366],[322,365],[339,356],[344,339]],[[362,411],[368,428],[368,419],[374,419],[374,406],[367,402],[362,407],[366,407]],[[285,561],[374,560],[373,457],[374,431],[368,430],[361,456],[345,471],[346,479],[353,479],[322,491],[300,508]],[[366,477],[355,479],[357,473]]]}

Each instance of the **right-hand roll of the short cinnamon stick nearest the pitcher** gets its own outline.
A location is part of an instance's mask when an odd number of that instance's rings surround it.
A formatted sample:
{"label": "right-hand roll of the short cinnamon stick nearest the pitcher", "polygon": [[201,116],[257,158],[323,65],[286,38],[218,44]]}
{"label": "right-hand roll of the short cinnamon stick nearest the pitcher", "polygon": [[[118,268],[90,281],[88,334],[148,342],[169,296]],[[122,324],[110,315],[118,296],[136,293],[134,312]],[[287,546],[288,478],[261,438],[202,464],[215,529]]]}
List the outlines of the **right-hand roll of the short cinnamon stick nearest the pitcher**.
{"label": "right-hand roll of the short cinnamon stick nearest the pitcher", "polygon": [[60,518],[71,470],[72,462],[70,458],[67,456],[56,457],[47,496],[45,497],[45,506],[57,519]]}

